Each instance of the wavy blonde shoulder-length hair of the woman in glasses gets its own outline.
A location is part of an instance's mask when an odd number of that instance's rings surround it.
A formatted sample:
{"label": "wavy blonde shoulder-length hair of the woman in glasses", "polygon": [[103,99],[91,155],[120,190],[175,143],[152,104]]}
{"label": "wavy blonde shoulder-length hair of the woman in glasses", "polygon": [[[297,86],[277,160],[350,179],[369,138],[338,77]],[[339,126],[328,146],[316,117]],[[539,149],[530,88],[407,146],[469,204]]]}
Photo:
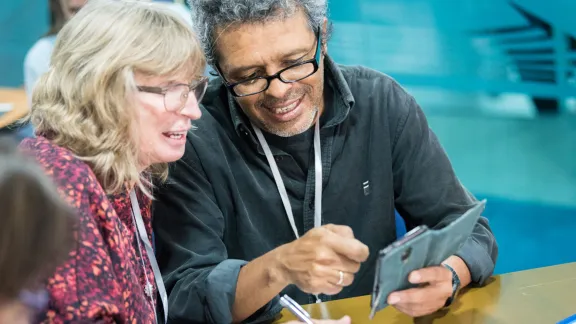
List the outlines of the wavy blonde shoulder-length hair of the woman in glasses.
{"label": "wavy blonde shoulder-length hair of the woman in glasses", "polygon": [[107,193],[135,184],[151,196],[151,177],[165,179],[167,165],[139,168],[134,74],[193,79],[205,64],[196,35],[170,9],[91,0],[58,34],[30,120],[37,134],[87,162]]}

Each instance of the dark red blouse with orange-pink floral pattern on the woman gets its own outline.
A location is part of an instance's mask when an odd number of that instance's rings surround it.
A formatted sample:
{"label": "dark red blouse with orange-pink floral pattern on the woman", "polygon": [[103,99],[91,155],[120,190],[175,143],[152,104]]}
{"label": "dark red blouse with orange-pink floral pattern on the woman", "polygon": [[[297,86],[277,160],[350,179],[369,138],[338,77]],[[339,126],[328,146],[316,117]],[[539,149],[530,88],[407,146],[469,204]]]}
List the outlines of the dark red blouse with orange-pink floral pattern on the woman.
{"label": "dark red blouse with orange-pink floral pattern on the woman", "polygon": [[[146,277],[156,288],[154,273],[144,244],[138,249],[129,192],[106,195],[86,163],[46,138],[26,139],[20,147],[53,178],[80,220],[75,248],[48,280],[50,303],[41,321],[154,323],[156,294],[152,301],[144,293]],[[152,241],[151,201],[140,193],[138,201]]]}

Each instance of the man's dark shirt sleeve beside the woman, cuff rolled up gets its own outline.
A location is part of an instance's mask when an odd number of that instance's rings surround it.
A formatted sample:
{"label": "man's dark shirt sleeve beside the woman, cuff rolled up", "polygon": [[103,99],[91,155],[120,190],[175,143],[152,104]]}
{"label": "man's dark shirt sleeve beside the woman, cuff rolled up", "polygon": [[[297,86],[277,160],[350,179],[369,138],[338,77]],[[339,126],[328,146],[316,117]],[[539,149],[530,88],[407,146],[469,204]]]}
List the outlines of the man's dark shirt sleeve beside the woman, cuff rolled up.
{"label": "man's dark shirt sleeve beside the woman, cuff rolled up", "polygon": [[[247,262],[228,259],[226,219],[191,140],[154,203],[156,253],[169,295],[169,322],[231,323],[238,275]],[[279,307],[275,299],[246,322],[269,321]]]}

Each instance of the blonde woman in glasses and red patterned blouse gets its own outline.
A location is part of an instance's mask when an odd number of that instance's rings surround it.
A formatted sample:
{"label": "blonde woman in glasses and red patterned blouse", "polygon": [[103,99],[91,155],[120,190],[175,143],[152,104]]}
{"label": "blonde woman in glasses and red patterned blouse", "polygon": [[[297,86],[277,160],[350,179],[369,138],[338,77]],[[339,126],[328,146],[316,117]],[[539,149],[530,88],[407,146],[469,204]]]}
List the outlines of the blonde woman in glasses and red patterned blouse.
{"label": "blonde woman in glasses and red patterned blouse", "polygon": [[166,320],[151,193],[201,115],[204,68],[196,35],[154,3],[91,0],[59,32],[33,92],[37,137],[21,144],[79,217],[43,321]]}

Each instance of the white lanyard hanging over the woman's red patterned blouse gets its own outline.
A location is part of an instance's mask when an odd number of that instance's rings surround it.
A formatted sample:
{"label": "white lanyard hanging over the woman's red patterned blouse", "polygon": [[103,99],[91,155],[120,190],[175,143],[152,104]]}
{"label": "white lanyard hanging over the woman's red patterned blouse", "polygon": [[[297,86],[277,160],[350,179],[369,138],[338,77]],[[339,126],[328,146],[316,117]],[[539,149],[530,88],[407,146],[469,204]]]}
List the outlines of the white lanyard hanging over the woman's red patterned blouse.
{"label": "white lanyard hanging over the woman's red patterned blouse", "polygon": [[[164,281],[162,281],[162,274],[160,273],[160,268],[158,267],[158,262],[156,261],[156,256],[154,255],[154,250],[152,249],[152,244],[148,240],[148,234],[146,233],[146,227],[144,226],[144,221],[142,220],[142,214],[140,213],[140,206],[138,205],[138,199],[136,198],[136,192],[134,190],[130,191],[130,201],[132,202],[132,213],[134,219],[136,220],[136,227],[138,228],[138,234],[140,239],[144,242],[144,247],[146,248],[146,254],[148,254],[148,259],[152,265],[152,271],[154,271],[154,280],[156,281],[156,288],[160,294],[160,300],[162,302],[162,307],[164,309],[164,323],[168,323],[168,297],[166,295],[166,288],[164,287]],[[142,269],[146,271],[146,269]],[[154,313],[156,313],[156,305],[154,307]],[[156,320],[158,322],[158,320]]]}

